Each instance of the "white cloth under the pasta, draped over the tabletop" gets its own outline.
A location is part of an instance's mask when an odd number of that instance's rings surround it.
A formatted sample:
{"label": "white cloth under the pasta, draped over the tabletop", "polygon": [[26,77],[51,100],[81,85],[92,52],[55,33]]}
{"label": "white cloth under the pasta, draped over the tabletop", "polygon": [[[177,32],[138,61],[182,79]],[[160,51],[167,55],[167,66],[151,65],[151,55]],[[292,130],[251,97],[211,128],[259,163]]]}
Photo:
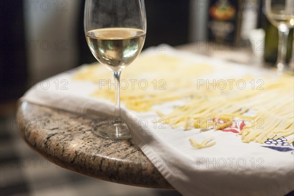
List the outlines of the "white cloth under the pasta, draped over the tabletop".
{"label": "white cloth under the pasta, draped over the tabletop", "polygon": [[[211,65],[231,65],[230,73],[235,76],[259,73],[255,68],[172,48],[165,51],[147,49],[144,55],[160,52]],[[61,73],[38,83],[25,93],[23,100],[81,114],[96,111],[105,116],[113,115],[113,103],[89,96],[97,86],[72,80],[73,73]],[[62,90],[65,81],[68,84],[64,88],[68,89]],[[56,83],[59,83],[58,88]],[[168,113],[174,104],[181,103],[173,101],[154,108]],[[182,127],[173,129],[168,124],[155,124],[152,123],[154,119],[160,119],[155,112],[137,113],[123,107],[122,117],[129,123],[134,144],[183,195],[286,195],[294,190],[294,155],[291,150],[282,152],[257,143],[245,144],[232,132],[183,131]],[[189,137],[202,141],[210,136],[216,137],[217,144],[209,148],[195,150],[188,141]],[[292,145],[289,147],[293,148]]]}

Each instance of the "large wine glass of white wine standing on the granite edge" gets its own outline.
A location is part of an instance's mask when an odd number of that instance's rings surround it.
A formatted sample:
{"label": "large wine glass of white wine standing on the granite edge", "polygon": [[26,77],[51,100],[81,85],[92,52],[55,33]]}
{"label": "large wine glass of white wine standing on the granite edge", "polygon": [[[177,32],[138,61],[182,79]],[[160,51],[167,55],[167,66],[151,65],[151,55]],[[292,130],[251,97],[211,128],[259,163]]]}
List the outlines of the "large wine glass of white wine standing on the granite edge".
{"label": "large wine glass of white wine standing on the granite edge", "polygon": [[86,0],[84,30],[95,58],[113,72],[115,112],[113,119],[101,121],[93,132],[104,138],[127,139],[130,133],[121,118],[120,76],[139,55],[146,36],[144,0]]}

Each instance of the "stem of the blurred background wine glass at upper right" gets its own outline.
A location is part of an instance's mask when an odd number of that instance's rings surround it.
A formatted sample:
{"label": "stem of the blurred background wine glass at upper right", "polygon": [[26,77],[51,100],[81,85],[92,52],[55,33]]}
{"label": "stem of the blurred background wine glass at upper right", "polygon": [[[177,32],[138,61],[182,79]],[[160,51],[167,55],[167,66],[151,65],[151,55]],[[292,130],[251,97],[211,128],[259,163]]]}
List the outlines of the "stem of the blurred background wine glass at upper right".
{"label": "stem of the blurred background wine glass at upper right", "polygon": [[278,70],[284,70],[286,66],[286,54],[287,54],[287,41],[288,41],[289,29],[279,29],[279,47],[277,68]]}

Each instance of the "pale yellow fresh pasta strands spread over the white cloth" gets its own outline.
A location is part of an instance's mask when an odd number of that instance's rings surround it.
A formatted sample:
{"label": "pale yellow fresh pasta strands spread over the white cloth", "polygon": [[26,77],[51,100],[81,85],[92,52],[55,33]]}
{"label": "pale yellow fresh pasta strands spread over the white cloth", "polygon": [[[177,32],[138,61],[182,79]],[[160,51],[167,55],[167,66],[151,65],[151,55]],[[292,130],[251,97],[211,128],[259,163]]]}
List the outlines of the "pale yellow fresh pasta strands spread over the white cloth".
{"label": "pale yellow fresh pasta strands spread over the white cloth", "polygon": [[[276,140],[294,134],[292,76],[264,76],[264,85],[260,89],[223,86],[216,81],[210,83],[210,88],[199,85],[196,78],[204,79],[203,75],[216,72],[214,66],[203,62],[196,64],[180,57],[143,55],[122,72],[125,83],[128,83],[121,90],[121,100],[127,108],[137,112],[150,111],[156,104],[183,100],[184,104],[175,105],[169,114],[155,111],[173,128],[182,127],[183,130],[217,130],[230,126],[236,118],[244,119],[246,125],[239,134],[245,143],[264,143],[268,139]],[[225,72],[227,69],[222,68],[218,75]],[[110,72],[99,65],[84,67],[73,76],[73,79],[93,81],[99,85],[92,97],[113,100],[114,89],[108,85],[100,88],[99,84],[101,79],[108,81],[109,78]],[[249,83],[253,77],[244,75],[234,79]],[[252,111],[253,114],[248,116]],[[207,147],[209,142],[199,144],[194,139],[189,141],[196,149]]]}

